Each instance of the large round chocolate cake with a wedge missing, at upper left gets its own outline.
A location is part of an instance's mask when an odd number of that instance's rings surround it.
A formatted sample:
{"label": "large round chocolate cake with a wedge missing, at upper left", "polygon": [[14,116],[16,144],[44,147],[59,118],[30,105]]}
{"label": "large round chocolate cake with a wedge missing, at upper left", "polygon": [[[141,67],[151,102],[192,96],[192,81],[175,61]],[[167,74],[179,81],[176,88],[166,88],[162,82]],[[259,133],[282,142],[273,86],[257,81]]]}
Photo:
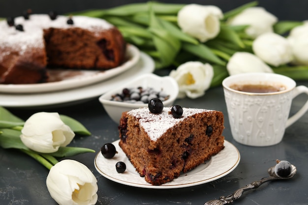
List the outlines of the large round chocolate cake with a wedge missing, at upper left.
{"label": "large round chocolate cake with a wedge missing, at upper left", "polygon": [[124,61],[120,31],[103,19],[32,14],[0,21],[0,83],[48,81],[46,66],[105,70]]}

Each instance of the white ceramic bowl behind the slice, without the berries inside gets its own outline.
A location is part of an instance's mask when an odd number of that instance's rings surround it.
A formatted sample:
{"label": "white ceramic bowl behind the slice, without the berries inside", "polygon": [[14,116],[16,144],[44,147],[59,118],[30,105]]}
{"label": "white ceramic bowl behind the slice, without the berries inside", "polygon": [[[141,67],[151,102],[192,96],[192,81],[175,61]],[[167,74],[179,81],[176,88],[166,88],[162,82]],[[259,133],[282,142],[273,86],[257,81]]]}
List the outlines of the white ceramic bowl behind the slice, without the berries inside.
{"label": "white ceramic bowl behind the slice, without the berries inside", "polygon": [[99,97],[99,101],[102,103],[107,114],[116,122],[120,122],[122,113],[141,107],[148,107],[147,103],[127,103],[110,100],[112,95],[122,93],[123,88],[154,88],[155,90],[163,90],[169,95],[167,100],[163,101],[164,107],[173,106],[175,99],[179,93],[179,86],[177,82],[170,76],[160,77],[153,73],[140,75],[127,84],[123,84],[123,87],[116,88],[106,92]]}

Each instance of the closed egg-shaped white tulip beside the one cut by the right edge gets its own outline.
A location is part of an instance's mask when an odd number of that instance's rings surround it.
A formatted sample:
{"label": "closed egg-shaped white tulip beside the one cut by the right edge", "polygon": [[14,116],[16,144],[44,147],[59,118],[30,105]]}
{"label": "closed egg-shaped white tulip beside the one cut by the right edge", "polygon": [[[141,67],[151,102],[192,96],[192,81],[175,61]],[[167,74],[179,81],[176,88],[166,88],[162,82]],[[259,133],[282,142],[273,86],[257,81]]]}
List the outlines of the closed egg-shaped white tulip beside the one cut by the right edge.
{"label": "closed egg-shaped white tulip beside the one cut by the right edge", "polygon": [[288,40],[276,33],[259,35],[252,44],[254,54],[264,62],[278,66],[292,60],[292,50]]}

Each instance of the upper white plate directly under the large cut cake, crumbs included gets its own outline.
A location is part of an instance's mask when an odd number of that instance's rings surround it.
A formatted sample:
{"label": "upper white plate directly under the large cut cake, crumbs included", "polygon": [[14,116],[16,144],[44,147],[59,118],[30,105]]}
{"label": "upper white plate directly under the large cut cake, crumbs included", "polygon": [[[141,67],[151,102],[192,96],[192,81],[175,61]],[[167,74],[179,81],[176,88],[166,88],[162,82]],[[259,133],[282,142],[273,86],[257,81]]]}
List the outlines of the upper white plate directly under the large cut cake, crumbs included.
{"label": "upper white plate directly under the large cut cake, crumbs included", "polygon": [[50,92],[69,88],[79,88],[97,82],[107,80],[132,68],[140,58],[140,51],[133,45],[127,45],[126,61],[109,70],[73,70],[73,69],[48,69],[49,83],[39,84],[0,84],[0,92],[3,93],[36,93]]}

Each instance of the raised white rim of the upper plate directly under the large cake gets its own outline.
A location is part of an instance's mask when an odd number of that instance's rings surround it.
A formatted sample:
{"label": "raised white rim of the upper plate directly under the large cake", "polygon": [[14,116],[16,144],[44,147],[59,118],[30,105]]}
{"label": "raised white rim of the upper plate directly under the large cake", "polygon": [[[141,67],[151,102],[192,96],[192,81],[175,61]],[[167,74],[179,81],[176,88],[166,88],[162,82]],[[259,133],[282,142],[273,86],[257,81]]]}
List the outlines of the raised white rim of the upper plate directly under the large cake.
{"label": "raised white rim of the upper plate directly under the large cake", "polygon": [[[106,81],[119,73],[129,70],[135,66],[141,56],[140,50],[132,45],[127,44],[126,54],[128,59],[121,65],[107,70],[74,70],[67,69],[66,71],[81,71],[81,72],[92,72],[92,75],[87,76],[77,76],[75,78],[64,79],[55,82],[46,82],[39,84],[0,84],[0,93],[7,94],[33,94],[33,93],[45,93],[45,92],[55,92],[64,89],[80,88],[92,85],[94,83]],[[48,70],[48,68],[47,68]],[[49,69],[50,70],[50,69]]]}

